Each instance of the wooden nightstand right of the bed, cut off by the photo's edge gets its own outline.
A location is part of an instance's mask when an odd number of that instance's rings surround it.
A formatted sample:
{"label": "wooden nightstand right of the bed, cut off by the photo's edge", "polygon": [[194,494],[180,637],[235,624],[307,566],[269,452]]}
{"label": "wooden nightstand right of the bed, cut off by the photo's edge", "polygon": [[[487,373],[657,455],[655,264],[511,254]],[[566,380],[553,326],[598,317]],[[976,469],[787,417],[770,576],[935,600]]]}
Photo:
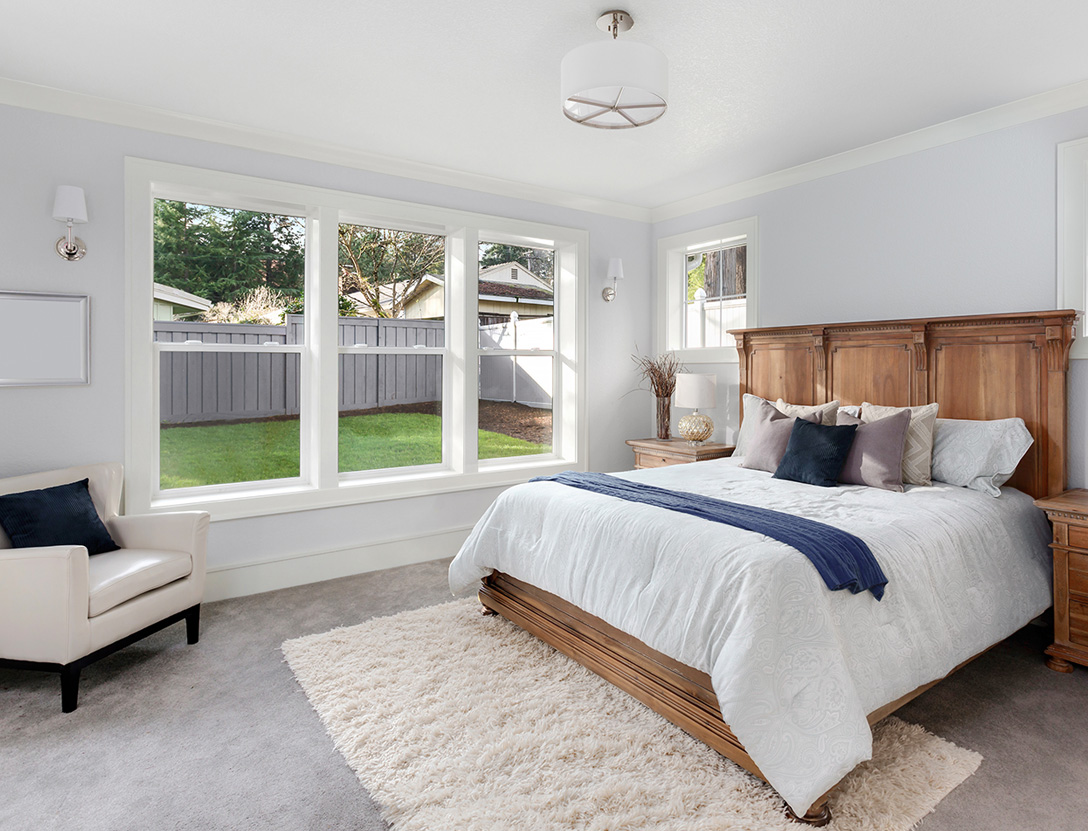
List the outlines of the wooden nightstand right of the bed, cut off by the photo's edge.
{"label": "wooden nightstand right of the bed, cut off by the photo's edge", "polygon": [[1047,666],[1072,672],[1088,667],[1088,491],[1036,499],[1054,525],[1054,643]]}

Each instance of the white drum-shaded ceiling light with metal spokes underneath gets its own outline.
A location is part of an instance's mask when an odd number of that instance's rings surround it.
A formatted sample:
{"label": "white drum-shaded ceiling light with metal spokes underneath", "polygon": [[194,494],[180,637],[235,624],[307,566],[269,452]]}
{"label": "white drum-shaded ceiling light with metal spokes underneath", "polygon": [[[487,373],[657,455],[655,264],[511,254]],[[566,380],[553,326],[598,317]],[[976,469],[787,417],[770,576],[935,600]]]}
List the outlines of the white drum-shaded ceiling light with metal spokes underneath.
{"label": "white drum-shaded ceiling light with metal spokes underneath", "polygon": [[588,127],[627,129],[665,114],[668,60],[647,44],[619,40],[619,33],[633,25],[628,12],[605,12],[597,28],[611,38],[571,49],[564,57],[559,86],[568,119]]}

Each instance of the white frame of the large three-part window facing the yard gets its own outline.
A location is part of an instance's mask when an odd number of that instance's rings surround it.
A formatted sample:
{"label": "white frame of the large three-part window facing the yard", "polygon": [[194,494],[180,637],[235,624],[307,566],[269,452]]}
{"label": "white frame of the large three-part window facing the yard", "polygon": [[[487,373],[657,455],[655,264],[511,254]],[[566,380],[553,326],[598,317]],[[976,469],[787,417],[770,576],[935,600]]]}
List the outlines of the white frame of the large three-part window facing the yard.
{"label": "white frame of the large three-part window facing the yard", "polygon": [[[297,351],[300,360],[300,475],[237,485],[158,489],[160,351],[222,350],[208,345],[156,345],[152,326],[156,199],[222,204],[306,218],[305,344],[244,347]],[[421,230],[446,236],[446,343],[443,356],[443,462],[413,468],[338,471],[337,230],[341,222]],[[125,160],[125,510],[201,509],[213,520],[311,510],[523,482],[585,469],[585,310],[589,234],[434,206],[308,185],[221,173],[165,162]],[[554,442],[551,454],[477,459],[480,355],[477,331],[479,239],[517,240],[555,250],[555,349],[502,350],[553,355]],[[376,349],[374,352],[376,354]],[[384,351],[384,350],[383,350]],[[400,350],[418,355],[423,350]],[[369,352],[368,352],[369,354]]]}

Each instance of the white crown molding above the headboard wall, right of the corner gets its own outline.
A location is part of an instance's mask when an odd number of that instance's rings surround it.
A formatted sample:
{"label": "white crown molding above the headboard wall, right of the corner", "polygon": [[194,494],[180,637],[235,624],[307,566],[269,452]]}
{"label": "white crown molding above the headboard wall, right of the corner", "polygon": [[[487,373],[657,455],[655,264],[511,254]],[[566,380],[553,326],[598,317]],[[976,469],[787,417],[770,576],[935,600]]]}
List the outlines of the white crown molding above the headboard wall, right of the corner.
{"label": "white crown molding above the headboard wall, right of the corner", "polygon": [[1088,80],[1071,84],[1030,98],[1022,98],[989,110],[981,110],[959,119],[934,124],[929,127],[904,133],[853,150],[845,150],[794,168],[768,173],[735,185],[708,190],[705,194],[679,199],[651,211],[652,222],[684,216],[695,211],[716,208],[740,199],[747,199],[771,190],[779,190],[803,182],[833,176],[837,173],[865,168],[869,164],[910,156],[964,138],[980,136],[997,129],[1013,127],[1049,115],[1088,107]]}

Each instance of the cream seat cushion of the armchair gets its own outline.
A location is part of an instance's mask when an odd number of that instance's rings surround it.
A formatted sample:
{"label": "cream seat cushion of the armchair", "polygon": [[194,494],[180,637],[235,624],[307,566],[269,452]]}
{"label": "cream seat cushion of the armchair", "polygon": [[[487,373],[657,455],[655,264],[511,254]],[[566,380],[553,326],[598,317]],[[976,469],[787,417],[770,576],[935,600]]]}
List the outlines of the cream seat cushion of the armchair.
{"label": "cream seat cushion of the armchair", "polygon": [[193,572],[193,558],[186,551],[120,548],[96,554],[88,563],[89,618]]}

